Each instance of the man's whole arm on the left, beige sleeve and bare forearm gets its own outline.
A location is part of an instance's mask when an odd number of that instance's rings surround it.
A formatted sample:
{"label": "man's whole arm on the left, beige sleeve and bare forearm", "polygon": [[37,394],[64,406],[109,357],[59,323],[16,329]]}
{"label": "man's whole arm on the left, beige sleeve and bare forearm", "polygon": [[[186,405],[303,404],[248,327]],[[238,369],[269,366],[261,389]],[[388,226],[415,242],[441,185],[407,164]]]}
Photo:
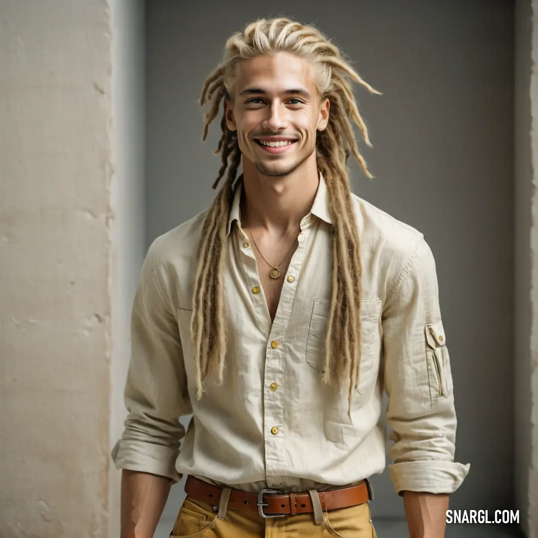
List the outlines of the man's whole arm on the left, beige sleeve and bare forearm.
{"label": "man's whole arm on the left, beige sleeve and bare forearm", "polygon": [[[172,484],[192,413],[175,307],[159,239],[142,266],[131,317],[131,360],[125,384],[129,415],[112,459],[122,471],[121,536],[152,538]],[[176,275],[177,276],[177,275]]]}

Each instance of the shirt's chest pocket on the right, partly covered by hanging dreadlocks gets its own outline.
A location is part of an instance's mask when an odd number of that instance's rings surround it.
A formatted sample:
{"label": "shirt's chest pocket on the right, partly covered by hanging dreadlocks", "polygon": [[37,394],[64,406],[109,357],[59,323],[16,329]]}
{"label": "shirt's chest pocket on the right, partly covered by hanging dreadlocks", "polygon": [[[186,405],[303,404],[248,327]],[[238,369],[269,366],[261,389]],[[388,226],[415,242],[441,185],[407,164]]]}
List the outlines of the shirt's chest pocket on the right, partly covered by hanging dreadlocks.
{"label": "shirt's chest pocket on the right, partly covered by hanging dreadlocks", "polygon": [[[323,372],[325,362],[325,337],[329,321],[330,301],[314,298],[312,317],[306,344],[306,362],[318,372]],[[369,371],[379,358],[379,316],[381,299],[360,302],[360,372]],[[378,350],[376,352],[376,350]]]}

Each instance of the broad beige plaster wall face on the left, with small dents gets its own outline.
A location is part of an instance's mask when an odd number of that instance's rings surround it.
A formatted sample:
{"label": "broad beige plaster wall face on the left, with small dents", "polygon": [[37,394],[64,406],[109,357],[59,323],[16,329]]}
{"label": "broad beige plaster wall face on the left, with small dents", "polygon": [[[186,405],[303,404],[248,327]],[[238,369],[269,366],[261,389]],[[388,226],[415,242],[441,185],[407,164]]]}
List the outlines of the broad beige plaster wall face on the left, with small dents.
{"label": "broad beige plaster wall face on the left, with small dents", "polygon": [[0,4],[0,536],[107,538],[110,13]]}

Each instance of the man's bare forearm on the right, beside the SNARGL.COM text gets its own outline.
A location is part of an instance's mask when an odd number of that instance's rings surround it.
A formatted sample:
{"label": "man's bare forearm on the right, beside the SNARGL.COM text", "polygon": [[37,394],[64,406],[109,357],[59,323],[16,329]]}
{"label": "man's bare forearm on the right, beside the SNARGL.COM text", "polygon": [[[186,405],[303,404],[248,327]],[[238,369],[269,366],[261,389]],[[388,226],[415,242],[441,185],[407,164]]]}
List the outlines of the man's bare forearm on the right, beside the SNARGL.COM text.
{"label": "man's bare forearm on the right, beside the SNARGL.COM text", "polygon": [[404,507],[410,538],[444,538],[448,494],[404,491]]}

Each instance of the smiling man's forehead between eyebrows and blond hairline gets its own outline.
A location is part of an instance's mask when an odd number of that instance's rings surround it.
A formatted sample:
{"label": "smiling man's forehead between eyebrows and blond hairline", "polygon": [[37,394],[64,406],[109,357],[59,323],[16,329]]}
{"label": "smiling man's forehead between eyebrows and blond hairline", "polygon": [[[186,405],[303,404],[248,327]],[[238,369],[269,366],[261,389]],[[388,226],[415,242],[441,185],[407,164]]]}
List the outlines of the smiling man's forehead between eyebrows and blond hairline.
{"label": "smiling man's forehead between eyebrows and blond hairline", "polygon": [[307,60],[280,52],[243,60],[237,67],[235,91],[256,87],[268,93],[305,87],[315,92],[314,70]]}

